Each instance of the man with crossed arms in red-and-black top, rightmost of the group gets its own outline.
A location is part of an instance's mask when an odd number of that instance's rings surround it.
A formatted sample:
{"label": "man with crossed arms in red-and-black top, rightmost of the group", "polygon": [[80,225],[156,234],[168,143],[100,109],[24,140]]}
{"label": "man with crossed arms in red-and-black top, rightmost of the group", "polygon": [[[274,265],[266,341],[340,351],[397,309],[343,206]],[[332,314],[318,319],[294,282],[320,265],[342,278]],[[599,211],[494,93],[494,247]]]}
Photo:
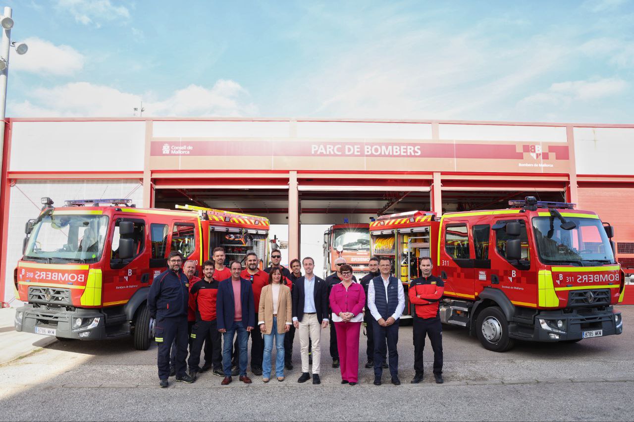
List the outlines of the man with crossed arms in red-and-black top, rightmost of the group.
{"label": "man with crossed arms in red-and-black top, rightmost of the group", "polygon": [[434,380],[442,384],[443,380],[443,328],[439,316],[439,300],[443,297],[443,280],[432,276],[432,260],[429,257],[420,259],[421,277],[410,284],[410,304],[415,305],[413,340],[414,371],[412,384],[423,380],[423,349],[425,336],[429,337],[434,350]]}

